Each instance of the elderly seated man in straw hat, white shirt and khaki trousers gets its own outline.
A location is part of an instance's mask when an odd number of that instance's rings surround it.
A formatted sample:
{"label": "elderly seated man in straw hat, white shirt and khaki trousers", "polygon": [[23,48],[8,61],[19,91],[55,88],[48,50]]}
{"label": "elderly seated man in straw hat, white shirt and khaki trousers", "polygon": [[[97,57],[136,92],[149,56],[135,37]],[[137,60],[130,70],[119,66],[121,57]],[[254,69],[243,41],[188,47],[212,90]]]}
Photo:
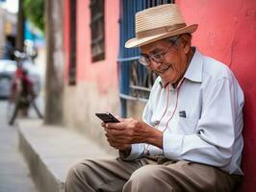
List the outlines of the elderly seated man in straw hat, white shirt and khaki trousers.
{"label": "elderly seated man in straw hat, white shirt and khaki trousers", "polygon": [[136,14],[141,64],[159,77],[143,111],[103,123],[120,157],[74,165],[65,191],[232,191],[243,172],[243,91],[229,68],[191,46],[175,4]]}

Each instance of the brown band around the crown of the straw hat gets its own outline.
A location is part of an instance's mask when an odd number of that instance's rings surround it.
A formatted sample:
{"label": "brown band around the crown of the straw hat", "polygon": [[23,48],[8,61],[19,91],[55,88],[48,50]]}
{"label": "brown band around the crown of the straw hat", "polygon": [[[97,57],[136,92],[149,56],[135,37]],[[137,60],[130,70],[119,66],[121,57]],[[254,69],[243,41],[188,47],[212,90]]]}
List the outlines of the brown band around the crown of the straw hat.
{"label": "brown band around the crown of the straw hat", "polygon": [[151,30],[141,31],[136,34],[136,37],[144,38],[147,36],[156,36],[156,35],[164,34],[166,32],[171,32],[183,27],[186,27],[186,23],[179,23],[171,26],[165,26],[165,27],[155,28]]}

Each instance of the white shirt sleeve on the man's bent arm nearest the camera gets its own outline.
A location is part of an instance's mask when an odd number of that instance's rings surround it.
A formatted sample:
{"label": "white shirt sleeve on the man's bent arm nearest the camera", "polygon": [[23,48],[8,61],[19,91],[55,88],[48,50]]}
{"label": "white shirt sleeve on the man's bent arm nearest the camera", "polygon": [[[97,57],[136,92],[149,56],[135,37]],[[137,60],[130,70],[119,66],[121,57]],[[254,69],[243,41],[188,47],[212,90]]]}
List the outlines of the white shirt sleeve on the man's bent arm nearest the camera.
{"label": "white shirt sleeve on the man's bent arm nearest the camera", "polygon": [[224,167],[230,164],[236,132],[241,132],[235,130],[238,94],[227,78],[208,85],[202,92],[203,105],[196,132],[188,135],[164,132],[163,151],[167,158]]}

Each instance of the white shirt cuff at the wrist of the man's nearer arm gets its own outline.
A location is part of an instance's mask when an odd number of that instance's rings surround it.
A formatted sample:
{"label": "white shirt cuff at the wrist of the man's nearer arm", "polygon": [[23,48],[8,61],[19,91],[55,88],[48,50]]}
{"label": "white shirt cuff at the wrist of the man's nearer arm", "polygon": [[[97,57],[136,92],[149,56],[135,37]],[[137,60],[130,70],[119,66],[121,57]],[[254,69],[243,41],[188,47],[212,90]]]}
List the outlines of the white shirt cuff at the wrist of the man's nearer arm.
{"label": "white shirt cuff at the wrist of the man's nearer arm", "polygon": [[164,132],[163,152],[167,158],[178,159],[183,145],[183,135],[177,133]]}

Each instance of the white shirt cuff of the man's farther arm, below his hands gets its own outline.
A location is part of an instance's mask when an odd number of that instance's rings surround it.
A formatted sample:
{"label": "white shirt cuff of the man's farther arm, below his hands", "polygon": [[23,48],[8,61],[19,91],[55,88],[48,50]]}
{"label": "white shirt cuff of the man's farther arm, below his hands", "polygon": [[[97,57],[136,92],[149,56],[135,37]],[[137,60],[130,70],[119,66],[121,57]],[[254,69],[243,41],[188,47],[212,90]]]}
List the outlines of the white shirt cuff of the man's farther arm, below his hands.
{"label": "white shirt cuff of the man's farther arm, below his hands", "polygon": [[143,151],[144,151],[143,143],[133,144],[129,155],[124,155],[119,151],[119,156],[123,160],[135,160],[143,154]]}

